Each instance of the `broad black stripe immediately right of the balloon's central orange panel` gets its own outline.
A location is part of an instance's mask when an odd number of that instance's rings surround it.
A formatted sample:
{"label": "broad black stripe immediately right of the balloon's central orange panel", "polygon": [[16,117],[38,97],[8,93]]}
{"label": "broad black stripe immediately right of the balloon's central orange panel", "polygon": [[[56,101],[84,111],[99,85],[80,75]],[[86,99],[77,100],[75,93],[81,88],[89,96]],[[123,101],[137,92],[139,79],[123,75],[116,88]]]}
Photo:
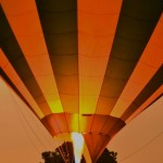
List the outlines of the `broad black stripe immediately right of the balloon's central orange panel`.
{"label": "broad black stripe immediately right of the balloon's central orange panel", "polygon": [[[136,67],[162,14],[160,0],[124,0],[99,101],[116,97],[112,111]],[[143,20],[143,21],[142,21]],[[117,78],[112,80],[112,78]],[[100,102],[99,102],[100,103]],[[100,105],[98,105],[100,109]]]}

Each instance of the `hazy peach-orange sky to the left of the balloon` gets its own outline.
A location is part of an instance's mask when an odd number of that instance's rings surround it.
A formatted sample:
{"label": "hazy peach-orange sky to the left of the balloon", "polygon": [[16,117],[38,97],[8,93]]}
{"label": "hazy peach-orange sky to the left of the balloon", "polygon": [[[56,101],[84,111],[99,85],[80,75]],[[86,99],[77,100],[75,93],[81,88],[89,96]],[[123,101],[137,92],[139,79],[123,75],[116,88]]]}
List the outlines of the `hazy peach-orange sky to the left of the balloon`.
{"label": "hazy peach-orange sky to the left of the balloon", "polygon": [[0,78],[0,162],[39,163],[41,152],[62,141],[53,140],[34,113]]}

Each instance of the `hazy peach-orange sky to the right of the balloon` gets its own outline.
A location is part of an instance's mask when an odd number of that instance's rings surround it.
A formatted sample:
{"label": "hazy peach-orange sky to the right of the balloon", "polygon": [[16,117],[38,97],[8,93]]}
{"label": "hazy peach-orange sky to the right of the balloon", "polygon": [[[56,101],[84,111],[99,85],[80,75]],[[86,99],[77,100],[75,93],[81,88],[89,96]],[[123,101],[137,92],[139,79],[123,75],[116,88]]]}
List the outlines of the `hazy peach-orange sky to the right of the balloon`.
{"label": "hazy peach-orange sky to the right of the balloon", "polygon": [[163,97],[150,105],[108,145],[120,163],[163,163]]}

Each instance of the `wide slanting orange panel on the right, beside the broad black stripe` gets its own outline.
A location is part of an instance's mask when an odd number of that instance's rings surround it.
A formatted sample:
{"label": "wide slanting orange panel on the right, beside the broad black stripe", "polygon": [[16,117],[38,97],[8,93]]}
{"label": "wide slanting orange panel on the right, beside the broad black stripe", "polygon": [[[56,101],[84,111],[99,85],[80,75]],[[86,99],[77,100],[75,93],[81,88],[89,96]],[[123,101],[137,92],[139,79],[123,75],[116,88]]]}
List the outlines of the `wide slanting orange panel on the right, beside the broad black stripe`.
{"label": "wide slanting orange panel on the right, beside the broad black stripe", "polygon": [[111,112],[112,116],[121,117],[127,106],[143,89],[148,82],[163,63],[163,15],[160,21],[133,73],[120,99]]}

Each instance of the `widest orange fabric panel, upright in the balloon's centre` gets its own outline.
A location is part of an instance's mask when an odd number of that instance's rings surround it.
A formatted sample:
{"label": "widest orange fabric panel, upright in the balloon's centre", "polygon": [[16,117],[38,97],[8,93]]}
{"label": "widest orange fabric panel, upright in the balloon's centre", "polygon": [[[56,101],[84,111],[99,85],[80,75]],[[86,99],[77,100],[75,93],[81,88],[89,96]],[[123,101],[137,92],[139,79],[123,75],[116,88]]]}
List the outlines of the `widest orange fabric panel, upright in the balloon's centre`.
{"label": "widest orange fabric panel, upright in the balloon's centre", "polygon": [[80,113],[96,112],[121,5],[122,0],[78,1]]}

